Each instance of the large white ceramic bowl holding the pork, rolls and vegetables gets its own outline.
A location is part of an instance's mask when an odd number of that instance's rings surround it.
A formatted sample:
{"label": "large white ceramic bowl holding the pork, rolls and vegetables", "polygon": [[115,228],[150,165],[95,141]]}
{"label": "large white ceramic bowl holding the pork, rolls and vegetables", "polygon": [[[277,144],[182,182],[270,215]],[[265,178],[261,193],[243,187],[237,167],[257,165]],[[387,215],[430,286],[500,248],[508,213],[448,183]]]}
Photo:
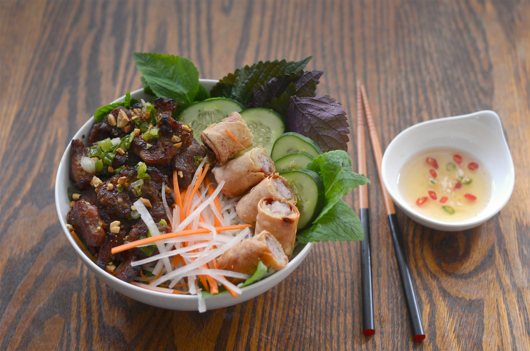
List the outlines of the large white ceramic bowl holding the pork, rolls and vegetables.
{"label": "large white ceramic bowl holding the pork, rolls and vegetables", "polygon": [[[211,90],[211,88],[217,83],[217,81],[215,80],[205,79],[200,80],[200,82],[208,90]],[[131,98],[135,98],[137,100],[149,100],[151,99],[151,96],[146,95],[143,89],[139,89],[131,93]],[[121,98],[113,102],[123,101],[124,99],[125,96],[121,96]],[[81,129],[77,131],[73,139],[83,139],[83,135],[88,136],[93,124],[94,119],[90,118],[83,125],[83,127],[81,127]],[[86,143],[86,138],[84,138],[84,141]],[[70,234],[70,231],[66,227],[66,214],[68,213],[68,209],[70,208],[70,201],[68,200],[67,189],[70,186],[73,187],[73,182],[69,179],[69,160],[70,144],[68,144],[68,146],[66,147],[63,157],[61,158],[61,161],[59,163],[59,168],[57,170],[57,177],[55,179],[55,203],[57,206],[57,214],[59,215],[59,221],[61,223],[61,226],[63,226],[66,238],[72,245],[74,251],[77,253],[77,256],[81,258],[83,263],[90,268],[90,270],[96,275],[96,277],[103,280],[103,282],[113,287],[118,292],[131,297],[131,299],[135,299],[137,301],[157,307],[162,307],[165,309],[180,311],[197,311],[198,297],[196,295],[176,295],[161,293],[123,282],[122,280],[114,277],[113,275],[107,273],[105,270],[96,266],[96,264],[92,262],[92,260],[88,258],[83,253],[83,251],[81,251],[81,248],[74,241],[72,235]],[[218,296],[208,297],[207,299],[205,299],[206,308],[208,310],[213,310],[235,305],[237,303],[253,299],[254,297],[268,291],[269,289],[280,283],[282,280],[284,280],[290,273],[292,273],[293,270],[298,267],[299,264],[301,264],[301,262],[307,256],[312,247],[313,243],[308,243],[306,245],[298,245],[295,249],[294,257],[290,260],[287,267],[277,271],[275,274],[272,274],[271,276],[261,280],[258,283],[254,283],[252,285],[242,288],[243,294],[235,298],[232,297],[230,294],[222,294]]]}

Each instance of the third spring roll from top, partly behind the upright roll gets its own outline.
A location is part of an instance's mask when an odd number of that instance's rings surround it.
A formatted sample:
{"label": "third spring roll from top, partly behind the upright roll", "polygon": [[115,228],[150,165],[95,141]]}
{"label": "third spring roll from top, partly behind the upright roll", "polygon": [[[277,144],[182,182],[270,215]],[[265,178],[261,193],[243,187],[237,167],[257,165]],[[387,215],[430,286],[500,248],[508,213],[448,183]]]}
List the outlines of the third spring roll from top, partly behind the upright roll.
{"label": "third spring roll from top, partly behind the upright roll", "polygon": [[246,194],[239,200],[235,206],[237,216],[243,222],[254,226],[256,217],[258,216],[258,203],[264,197],[281,199],[296,205],[296,195],[285,178],[280,177],[278,174],[272,174],[263,179],[257,186],[250,190],[249,194]]}

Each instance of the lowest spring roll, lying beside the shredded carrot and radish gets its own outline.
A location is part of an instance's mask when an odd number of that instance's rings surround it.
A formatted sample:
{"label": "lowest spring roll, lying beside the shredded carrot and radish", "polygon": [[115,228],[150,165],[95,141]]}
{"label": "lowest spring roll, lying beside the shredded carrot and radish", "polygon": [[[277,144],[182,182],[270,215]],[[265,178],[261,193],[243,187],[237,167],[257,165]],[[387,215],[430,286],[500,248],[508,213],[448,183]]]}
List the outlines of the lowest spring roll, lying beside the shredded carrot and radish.
{"label": "lowest spring roll, lying beside the shredded carrot and radish", "polygon": [[[246,239],[217,258],[217,268],[253,275],[261,261],[268,268],[280,270],[289,262],[281,244],[268,231]],[[234,284],[243,279],[227,278]]]}

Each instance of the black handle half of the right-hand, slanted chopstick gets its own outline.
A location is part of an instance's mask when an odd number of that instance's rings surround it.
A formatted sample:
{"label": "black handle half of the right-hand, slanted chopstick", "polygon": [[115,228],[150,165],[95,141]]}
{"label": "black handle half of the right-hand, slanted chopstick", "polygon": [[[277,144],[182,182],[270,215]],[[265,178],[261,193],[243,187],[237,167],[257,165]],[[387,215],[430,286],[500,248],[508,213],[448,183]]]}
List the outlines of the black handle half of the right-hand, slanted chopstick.
{"label": "black handle half of the right-hand, slanted chopstick", "polygon": [[421,322],[421,313],[416,301],[416,294],[414,294],[414,287],[412,286],[412,277],[410,276],[409,266],[403,253],[401,244],[402,234],[399,229],[398,216],[396,214],[388,215],[388,222],[390,222],[390,229],[392,230],[392,239],[394,240],[394,248],[396,251],[396,258],[398,258],[398,265],[403,282],[403,289],[405,290],[405,300],[407,301],[407,308],[409,309],[410,323],[412,325],[412,339],[414,341],[421,341],[425,339],[425,331]]}

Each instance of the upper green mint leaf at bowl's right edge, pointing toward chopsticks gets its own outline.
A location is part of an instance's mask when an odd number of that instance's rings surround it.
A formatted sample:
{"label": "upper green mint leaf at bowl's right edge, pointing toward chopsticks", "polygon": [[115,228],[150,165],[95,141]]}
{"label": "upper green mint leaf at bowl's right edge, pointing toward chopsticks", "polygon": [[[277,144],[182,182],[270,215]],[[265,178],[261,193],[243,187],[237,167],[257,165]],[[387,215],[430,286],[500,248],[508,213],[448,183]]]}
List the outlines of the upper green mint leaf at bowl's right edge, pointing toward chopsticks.
{"label": "upper green mint leaf at bowl's right edge, pointing toward chopsticks", "polygon": [[350,156],[342,150],[326,152],[315,157],[306,169],[318,173],[324,183],[324,208],[313,223],[326,215],[351,189],[370,182],[364,175],[351,171]]}

